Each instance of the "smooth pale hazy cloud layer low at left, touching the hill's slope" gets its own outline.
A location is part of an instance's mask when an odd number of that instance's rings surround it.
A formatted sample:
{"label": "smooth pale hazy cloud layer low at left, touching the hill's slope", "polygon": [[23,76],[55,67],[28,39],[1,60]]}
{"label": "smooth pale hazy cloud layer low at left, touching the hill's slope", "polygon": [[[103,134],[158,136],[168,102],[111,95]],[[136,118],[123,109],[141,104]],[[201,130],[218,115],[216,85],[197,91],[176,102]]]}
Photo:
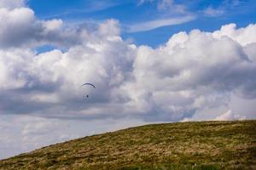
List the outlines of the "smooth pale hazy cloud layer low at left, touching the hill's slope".
{"label": "smooth pale hazy cloud layer low at left, touching the hill's slope", "polygon": [[0,159],[69,139],[143,124],[145,122],[129,117],[118,120],[79,121],[38,116],[0,115]]}

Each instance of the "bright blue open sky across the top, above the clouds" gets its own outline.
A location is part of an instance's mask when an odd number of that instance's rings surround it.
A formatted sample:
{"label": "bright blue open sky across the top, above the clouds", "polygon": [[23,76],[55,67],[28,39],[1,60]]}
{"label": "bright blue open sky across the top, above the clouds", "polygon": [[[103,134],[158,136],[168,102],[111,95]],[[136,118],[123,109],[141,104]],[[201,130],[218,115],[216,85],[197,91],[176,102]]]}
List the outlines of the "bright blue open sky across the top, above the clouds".
{"label": "bright blue open sky across the top, above the clouds", "polygon": [[[164,2],[169,6],[161,7],[160,3]],[[122,27],[122,37],[133,40],[137,45],[152,47],[158,47],[178,31],[214,31],[225,24],[236,23],[242,27],[256,20],[256,3],[253,0],[29,0],[28,6],[42,20],[57,18],[68,23],[88,23],[116,19]],[[131,26],[152,20],[183,20],[185,17],[189,17],[188,20],[172,26],[167,23],[149,30],[131,30]]]}

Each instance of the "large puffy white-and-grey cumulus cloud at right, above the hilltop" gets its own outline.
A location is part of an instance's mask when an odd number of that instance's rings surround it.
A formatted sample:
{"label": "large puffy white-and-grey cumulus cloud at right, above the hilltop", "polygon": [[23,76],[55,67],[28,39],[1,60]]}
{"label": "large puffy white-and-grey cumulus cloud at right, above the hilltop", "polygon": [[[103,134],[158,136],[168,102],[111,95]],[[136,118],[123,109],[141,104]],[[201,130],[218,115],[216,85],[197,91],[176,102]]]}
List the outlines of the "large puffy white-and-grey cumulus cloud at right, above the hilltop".
{"label": "large puffy white-and-grey cumulus cloud at right, above the hilltop", "polygon": [[[252,27],[254,31],[250,31]],[[242,30],[255,32],[255,28],[251,25]],[[256,67],[253,56],[244,50],[247,42],[223,30],[180,32],[160,48],[139,47],[133,71],[136,81],[128,83],[127,91],[136,101],[149,104],[144,105],[145,110],[153,106],[158,108],[154,112],[174,120],[191,116],[202,107],[228,105],[231,93],[255,98]],[[241,30],[235,32],[233,35]],[[252,39],[247,41],[255,42]]]}

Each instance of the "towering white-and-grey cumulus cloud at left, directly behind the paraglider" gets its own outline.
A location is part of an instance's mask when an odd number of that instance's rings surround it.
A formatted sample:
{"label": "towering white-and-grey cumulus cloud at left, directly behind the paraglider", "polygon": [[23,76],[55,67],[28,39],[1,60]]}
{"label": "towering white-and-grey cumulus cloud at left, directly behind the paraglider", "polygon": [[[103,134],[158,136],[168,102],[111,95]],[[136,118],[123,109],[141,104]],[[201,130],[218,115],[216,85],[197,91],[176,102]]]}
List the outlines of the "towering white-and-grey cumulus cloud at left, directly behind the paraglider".
{"label": "towering white-and-grey cumulus cloud at left, directly behind the paraglider", "polygon": [[[135,57],[134,45],[116,35],[117,24],[107,20],[92,32],[90,42],[85,40],[67,52],[53,50],[37,55],[31,49],[0,50],[1,112],[83,115],[108,108],[106,104],[112,100],[113,91],[129,77]],[[80,88],[89,81],[96,83],[96,91]],[[85,92],[94,93],[88,102],[84,101]]]}

